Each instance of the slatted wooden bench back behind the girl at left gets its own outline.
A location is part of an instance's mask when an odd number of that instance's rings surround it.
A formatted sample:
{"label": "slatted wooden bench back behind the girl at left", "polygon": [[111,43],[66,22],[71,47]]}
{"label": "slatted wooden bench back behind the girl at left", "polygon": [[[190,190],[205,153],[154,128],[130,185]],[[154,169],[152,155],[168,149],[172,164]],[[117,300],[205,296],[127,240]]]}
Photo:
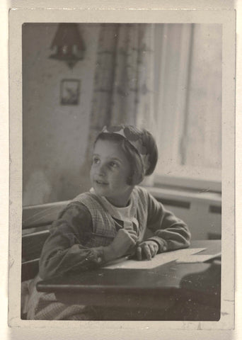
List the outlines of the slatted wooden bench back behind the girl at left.
{"label": "slatted wooden bench back behind the girl at left", "polygon": [[23,208],[22,282],[37,275],[42,246],[50,234],[49,227],[68,203],[64,201]]}

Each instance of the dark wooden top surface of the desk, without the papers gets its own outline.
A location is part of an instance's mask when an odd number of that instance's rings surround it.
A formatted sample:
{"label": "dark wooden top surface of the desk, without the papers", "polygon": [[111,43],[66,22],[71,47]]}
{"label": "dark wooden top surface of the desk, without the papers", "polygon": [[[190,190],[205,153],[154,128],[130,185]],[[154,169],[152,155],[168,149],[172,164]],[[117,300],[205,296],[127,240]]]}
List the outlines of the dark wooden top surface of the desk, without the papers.
{"label": "dark wooden top surface of the desk, without the papers", "polygon": [[[207,248],[201,254],[217,254],[221,251],[220,240],[197,240],[193,241],[192,248]],[[192,283],[192,289],[200,290],[202,273],[206,277],[216,276],[220,283],[220,266],[213,263],[176,263],[172,261],[162,266],[149,270],[136,269],[107,269],[98,268],[78,274],[69,274],[63,277],[56,277],[49,280],[42,280],[38,283],[39,291],[54,293],[145,293],[149,294],[159,291],[167,292],[183,286],[188,287],[190,276],[196,277],[196,283]],[[208,273],[208,275],[207,275]],[[197,275],[196,275],[197,274]],[[201,284],[200,284],[201,283]]]}

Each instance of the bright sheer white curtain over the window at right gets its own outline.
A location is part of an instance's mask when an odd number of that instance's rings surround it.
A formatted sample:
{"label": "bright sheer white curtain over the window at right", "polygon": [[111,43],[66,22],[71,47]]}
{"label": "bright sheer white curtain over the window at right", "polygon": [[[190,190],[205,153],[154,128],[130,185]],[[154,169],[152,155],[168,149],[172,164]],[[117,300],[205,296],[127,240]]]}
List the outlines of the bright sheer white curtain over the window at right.
{"label": "bright sheer white curtain over the window at right", "polygon": [[209,180],[219,188],[221,26],[157,25],[155,42],[156,174],[163,183]]}

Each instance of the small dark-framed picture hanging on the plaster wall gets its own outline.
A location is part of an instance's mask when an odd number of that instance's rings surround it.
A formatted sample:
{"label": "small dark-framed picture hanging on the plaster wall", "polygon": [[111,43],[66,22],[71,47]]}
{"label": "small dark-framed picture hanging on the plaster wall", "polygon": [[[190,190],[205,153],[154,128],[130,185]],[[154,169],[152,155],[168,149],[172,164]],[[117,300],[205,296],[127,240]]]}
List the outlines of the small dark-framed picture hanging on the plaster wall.
{"label": "small dark-framed picture hanging on the plaster wall", "polygon": [[61,105],[78,105],[81,81],[79,79],[63,79],[61,81]]}

